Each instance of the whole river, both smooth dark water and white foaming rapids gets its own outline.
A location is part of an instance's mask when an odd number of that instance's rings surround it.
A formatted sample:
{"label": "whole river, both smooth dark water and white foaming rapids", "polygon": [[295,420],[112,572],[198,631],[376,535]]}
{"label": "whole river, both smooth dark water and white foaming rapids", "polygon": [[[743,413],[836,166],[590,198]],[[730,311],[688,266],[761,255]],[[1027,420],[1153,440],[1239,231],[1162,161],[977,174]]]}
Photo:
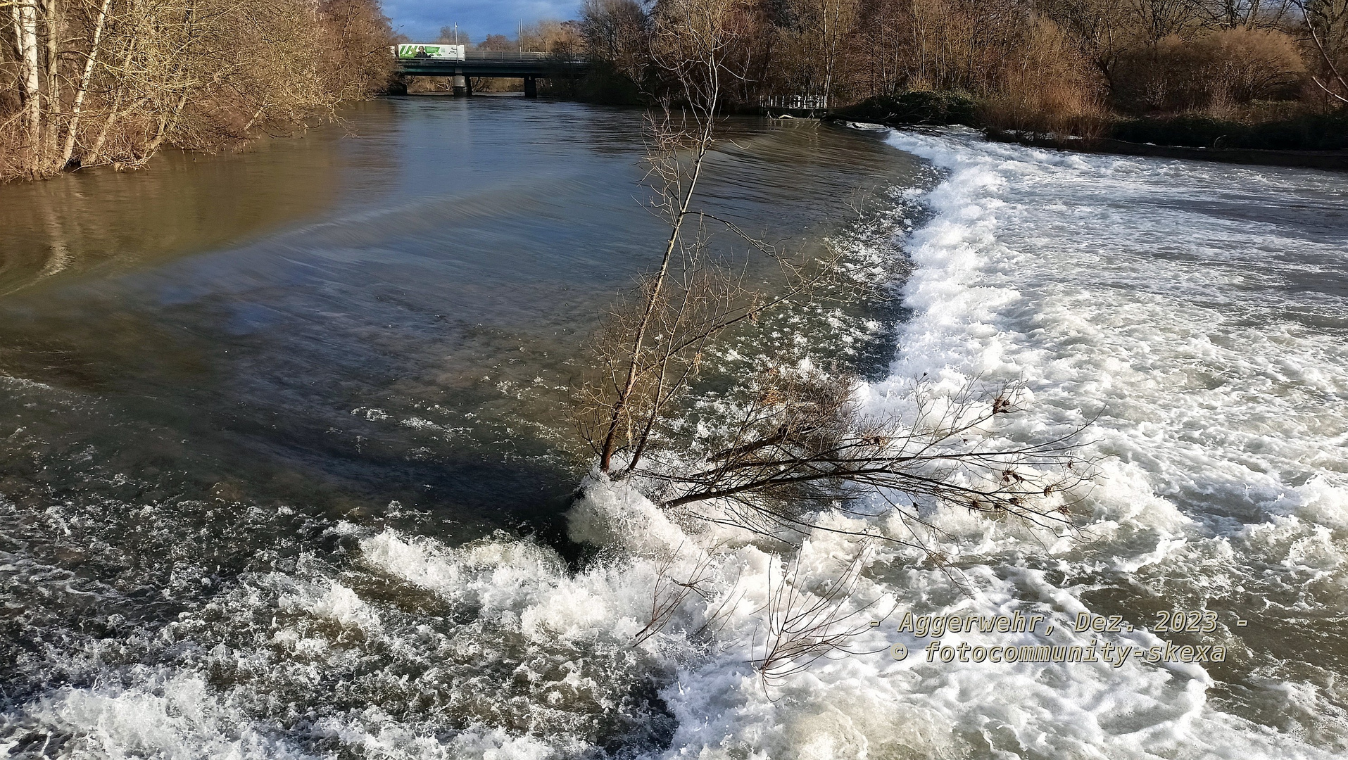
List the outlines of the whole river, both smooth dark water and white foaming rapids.
{"label": "whole river, both smooth dark water and white foaming rapids", "polygon": [[[876,411],[902,412],[923,373],[934,393],[1023,383],[1026,411],[989,437],[1092,423],[1077,538],[933,513],[949,566],[869,555],[859,592],[894,609],[857,637],[872,654],[763,685],[748,660],[780,547],[623,489],[566,515],[584,340],[663,236],[642,116],[367,104],[244,155],[0,187],[0,747],[1348,752],[1343,175],[961,131],[735,120],[725,137],[720,216],[841,249],[894,298],[799,307],[718,358],[844,361]],[[811,535],[795,566],[825,577],[848,540]],[[714,593],[634,644],[662,570],[687,562]],[[1165,609],[1215,612],[1216,631],[1166,640],[1229,655],[929,663],[894,625],[1039,613],[1064,623],[1053,643],[1085,644],[1066,621],[1092,612],[1135,625],[1099,637],[1153,645]],[[998,635],[944,643],[961,640]]]}

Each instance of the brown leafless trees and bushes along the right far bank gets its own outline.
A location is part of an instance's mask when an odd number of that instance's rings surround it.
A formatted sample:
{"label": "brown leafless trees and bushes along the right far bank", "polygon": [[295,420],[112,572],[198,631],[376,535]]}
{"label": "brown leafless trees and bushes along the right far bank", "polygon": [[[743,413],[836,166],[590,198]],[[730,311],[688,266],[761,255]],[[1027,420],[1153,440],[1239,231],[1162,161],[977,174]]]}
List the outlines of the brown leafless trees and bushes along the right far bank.
{"label": "brown leafless trees and bushes along the right far bank", "polygon": [[[586,0],[596,90],[671,88],[651,51],[670,0]],[[952,92],[1008,128],[1108,115],[1286,117],[1348,98],[1348,0],[720,0],[727,106]]]}

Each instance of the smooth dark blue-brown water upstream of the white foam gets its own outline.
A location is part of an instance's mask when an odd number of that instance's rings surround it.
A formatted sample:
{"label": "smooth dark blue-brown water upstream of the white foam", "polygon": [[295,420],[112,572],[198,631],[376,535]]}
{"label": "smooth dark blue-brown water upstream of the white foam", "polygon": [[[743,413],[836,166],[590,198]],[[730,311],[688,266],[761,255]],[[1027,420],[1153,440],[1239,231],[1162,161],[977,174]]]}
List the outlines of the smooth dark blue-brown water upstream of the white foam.
{"label": "smooth dark blue-brown water upstream of the white foam", "polygon": [[[248,604],[222,600],[257,573],[348,565],[336,526],[565,544],[557,519],[589,466],[568,418],[584,341],[666,237],[643,206],[643,115],[411,97],[344,119],[240,155],[0,187],[7,709],[185,667],[162,650],[170,621],[235,620],[187,636],[208,650],[252,636]],[[857,191],[921,167],[813,123],[723,133],[710,208],[805,255],[847,228]],[[445,623],[438,609],[422,612]],[[248,680],[221,678],[212,690]],[[577,736],[627,742],[586,725]]]}

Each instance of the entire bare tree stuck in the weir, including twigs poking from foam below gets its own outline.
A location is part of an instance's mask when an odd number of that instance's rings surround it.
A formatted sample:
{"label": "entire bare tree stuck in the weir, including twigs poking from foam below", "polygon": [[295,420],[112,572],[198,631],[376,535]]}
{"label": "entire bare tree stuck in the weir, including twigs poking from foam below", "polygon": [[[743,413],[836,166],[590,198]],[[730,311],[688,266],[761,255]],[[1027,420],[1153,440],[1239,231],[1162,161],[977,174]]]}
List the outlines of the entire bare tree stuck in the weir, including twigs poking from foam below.
{"label": "entire bare tree stuck in the weir, including twigs poking from foam below", "polygon": [[[692,411],[697,379],[721,369],[709,367],[721,338],[774,311],[807,307],[845,282],[838,251],[791,255],[700,202],[740,7],[678,0],[658,5],[654,16],[655,59],[686,104],[677,112],[666,101],[648,128],[652,206],[669,236],[658,265],[594,338],[577,422],[596,472],[572,520],[585,526],[573,534],[584,540],[603,535],[594,526],[605,521],[682,526],[666,534],[678,538],[656,539],[669,546],[643,548],[665,559],[635,640],[658,633],[685,605],[705,608],[701,633],[741,592],[766,600],[752,662],[767,687],[820,658],[853,651],[857,636],[884,617],[875,600],[853,594],[872,561],[867,547],[917,548],[953,571],[933,548],[944,538],[933,509],[1072,532],[1092,469],[1078,455],[1080,429],[1031,441],[1004,435],[1003,419],[1020,411],[1012,387],[937,393],[918,379],[907,398],[867,408],[863,384],[847,369],[776,356],[728,379],[729,389]],[[713,234],[736,240],[744,257],[713,251]],[[772,284],[751,284],[763,280]],[[770,588],[716,588],[708,567],[724,561],[720,544],[682,550],[685,530],[697,534],[698,526],[713,538],[767,546]],[[798,559],[782,559],[799,558],[811,535],[840,534],[852,548],[837,573],[821,577]]]}

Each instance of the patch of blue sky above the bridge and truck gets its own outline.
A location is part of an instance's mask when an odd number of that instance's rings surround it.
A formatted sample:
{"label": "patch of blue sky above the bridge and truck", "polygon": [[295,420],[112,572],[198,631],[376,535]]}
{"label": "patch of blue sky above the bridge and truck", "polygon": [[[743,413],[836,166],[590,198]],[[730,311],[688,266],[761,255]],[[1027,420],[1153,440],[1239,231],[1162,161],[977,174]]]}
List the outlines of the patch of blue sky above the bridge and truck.
{"label": "patch of blue sky above the bridge and truck", "polygon": [[580,0],[384,0],[384,13],[394,20],[394,31],[406,34],[412,42],[431,42],[439,27],[458,23],[473,42],[489,34],[515,36],[523,20],[574,19]]}

